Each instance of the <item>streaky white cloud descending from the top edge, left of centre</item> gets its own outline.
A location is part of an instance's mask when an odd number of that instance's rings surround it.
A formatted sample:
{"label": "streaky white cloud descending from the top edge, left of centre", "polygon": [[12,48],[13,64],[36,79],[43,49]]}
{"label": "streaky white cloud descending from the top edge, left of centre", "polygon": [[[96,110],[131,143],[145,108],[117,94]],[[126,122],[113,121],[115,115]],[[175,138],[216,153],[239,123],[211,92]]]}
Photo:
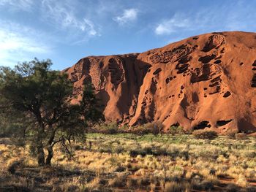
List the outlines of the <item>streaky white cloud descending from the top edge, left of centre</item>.
{"label": "streaky white cloud descending from the top edge, left of centre", "polygon": [[70,2],[72,1],[43,0],[42,13],[46,12],[46,20],[56,25],[57,28],[78,30],[89,36],[100,35],[91,20],[75,16],[75,7]]}

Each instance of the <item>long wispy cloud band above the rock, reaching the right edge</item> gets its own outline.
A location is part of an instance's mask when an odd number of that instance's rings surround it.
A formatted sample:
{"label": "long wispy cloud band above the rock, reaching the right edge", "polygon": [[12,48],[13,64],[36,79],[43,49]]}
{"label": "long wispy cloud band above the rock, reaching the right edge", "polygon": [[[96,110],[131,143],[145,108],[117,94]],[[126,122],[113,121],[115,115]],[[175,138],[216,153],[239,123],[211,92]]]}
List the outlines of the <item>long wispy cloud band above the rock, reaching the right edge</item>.
{"label": "long wispy cloud band above the rock, reaching the right edge", "polygon": [[[246,1],[233,1],[222,6],[198,9],[197,12],[176,12],[172,18],[162,20],[154,28],[157,35],[197,34],[211,31],[248,31],[255,28],[254,8]],[[248,14],[249,12],[249,14]]]}

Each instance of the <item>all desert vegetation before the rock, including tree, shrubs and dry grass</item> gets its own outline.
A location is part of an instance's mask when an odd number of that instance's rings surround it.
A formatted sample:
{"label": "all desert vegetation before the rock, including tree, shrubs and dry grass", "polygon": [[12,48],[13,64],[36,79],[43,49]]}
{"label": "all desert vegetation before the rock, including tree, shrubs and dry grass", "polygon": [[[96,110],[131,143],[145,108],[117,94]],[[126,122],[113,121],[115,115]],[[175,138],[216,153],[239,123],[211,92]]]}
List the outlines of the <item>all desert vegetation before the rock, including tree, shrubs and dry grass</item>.
{"label": "all desert vegetation before the rock, including tree, shrubs and dry grass", "polygon": [[50,65],[0,70],[0,191],[256,191],[255,137],[105,122]]}

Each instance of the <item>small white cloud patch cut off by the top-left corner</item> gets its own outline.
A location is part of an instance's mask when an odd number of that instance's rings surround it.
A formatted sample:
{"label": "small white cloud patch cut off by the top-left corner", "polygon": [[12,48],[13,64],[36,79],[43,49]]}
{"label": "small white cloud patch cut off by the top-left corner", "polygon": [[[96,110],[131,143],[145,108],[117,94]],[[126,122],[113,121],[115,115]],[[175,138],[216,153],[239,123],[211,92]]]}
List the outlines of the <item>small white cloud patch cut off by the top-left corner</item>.
{"label": "small white cloud patch cut off by the top-left corner", "polygon": [[9,6],[10,9],[30,11],[34,0],[0,0],[0,6]]}

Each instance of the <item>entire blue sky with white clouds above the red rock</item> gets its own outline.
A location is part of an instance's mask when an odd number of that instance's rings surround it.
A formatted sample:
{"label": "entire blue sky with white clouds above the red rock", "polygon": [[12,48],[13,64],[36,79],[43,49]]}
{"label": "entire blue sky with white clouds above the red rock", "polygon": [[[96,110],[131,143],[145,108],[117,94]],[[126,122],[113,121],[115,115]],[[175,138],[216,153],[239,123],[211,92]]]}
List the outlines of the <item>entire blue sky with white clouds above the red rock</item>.
{"label": "entire blue sky with white clouds above the red rock", "polygon": [[212,31],[256,31],[256,1],[0,0],[0,65],[138,53]]}

